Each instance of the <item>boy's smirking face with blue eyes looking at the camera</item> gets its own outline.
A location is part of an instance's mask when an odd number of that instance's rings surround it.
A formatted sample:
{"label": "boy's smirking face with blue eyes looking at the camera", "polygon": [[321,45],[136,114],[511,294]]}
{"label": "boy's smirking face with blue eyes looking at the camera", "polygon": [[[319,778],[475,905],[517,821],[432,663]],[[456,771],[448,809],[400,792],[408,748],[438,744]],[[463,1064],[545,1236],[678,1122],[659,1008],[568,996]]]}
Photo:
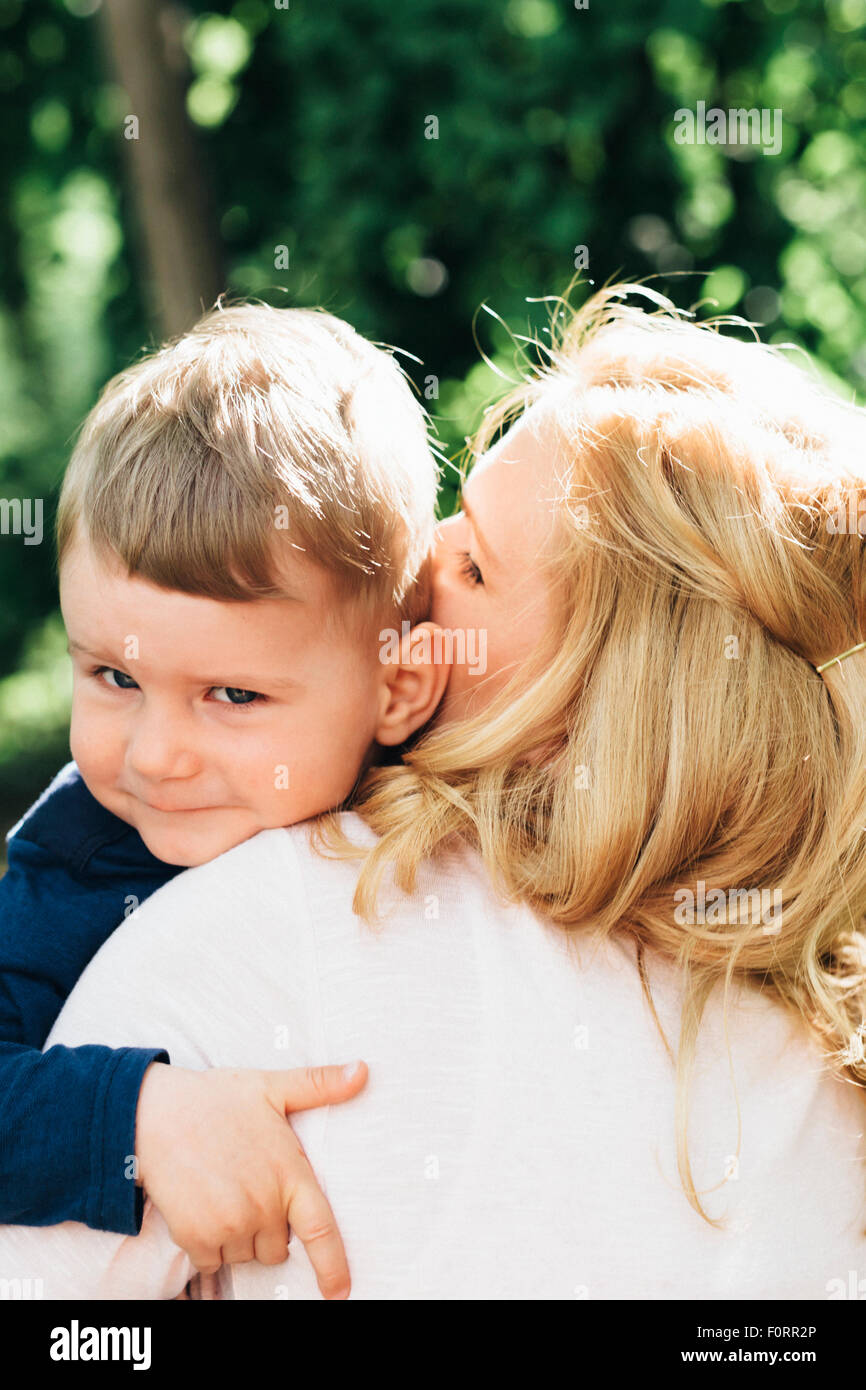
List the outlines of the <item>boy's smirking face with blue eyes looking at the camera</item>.
{"label": "boy's smirking face with blue eyes looking at the camera", "polygon": [[81,534],[64,556],[72,756],[165,863],[339,805],[375,739],[375,639],[331,621],[331,581],[302,555],[282,573],[293,598],[232,603],[129,578]]}

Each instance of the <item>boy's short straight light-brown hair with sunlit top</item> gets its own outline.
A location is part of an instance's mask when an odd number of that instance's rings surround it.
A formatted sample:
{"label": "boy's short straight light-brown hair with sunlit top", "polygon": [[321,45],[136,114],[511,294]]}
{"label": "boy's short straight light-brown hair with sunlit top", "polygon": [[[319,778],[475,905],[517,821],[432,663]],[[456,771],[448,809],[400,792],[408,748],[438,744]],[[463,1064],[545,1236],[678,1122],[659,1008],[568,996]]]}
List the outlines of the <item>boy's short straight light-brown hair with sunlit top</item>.
{"label": "boy's short straight light-brown hair with sunlit top", "polygon": [[57,517],[163,588],[282,596],[279,556],[329,571],[368,623],[427,616],[436,464],[395,359],[310,309],[222,303],[121,371],[85,420]]}

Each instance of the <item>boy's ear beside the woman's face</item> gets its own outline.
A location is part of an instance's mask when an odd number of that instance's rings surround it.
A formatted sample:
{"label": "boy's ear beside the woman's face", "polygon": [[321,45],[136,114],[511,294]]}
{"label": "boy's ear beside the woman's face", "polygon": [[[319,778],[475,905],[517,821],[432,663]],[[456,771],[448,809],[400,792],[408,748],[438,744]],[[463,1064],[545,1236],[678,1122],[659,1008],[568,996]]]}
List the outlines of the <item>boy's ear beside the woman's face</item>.
{"label": "boy's ear beside the woman's face", "polygon": [[400,638],[399,646],[393,645],[396,652],[384,662],[379,720],[374,735],[377,744],[388,748],[403,744],[416,728],[432,719],[450,676],[442,628],[435,623],[418,623]]}

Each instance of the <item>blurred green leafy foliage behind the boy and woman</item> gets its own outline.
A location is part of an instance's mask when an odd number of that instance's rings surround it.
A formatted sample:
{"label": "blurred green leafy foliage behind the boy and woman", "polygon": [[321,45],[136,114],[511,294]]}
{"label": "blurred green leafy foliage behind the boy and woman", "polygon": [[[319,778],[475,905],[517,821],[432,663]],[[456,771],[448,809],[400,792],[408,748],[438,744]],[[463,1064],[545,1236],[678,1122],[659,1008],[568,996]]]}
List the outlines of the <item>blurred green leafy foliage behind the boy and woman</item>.
{"label": "blurred green leafy foliage behind the boy and woman", "polygon": [[[0,496],[47,507],[100,385],[154,341],[97,7],[0,0]],[[480,306],[539,328],[527,297],[581,245],[595,282],[656,274],[866,382],[866,0],[193,0],[183,43],[227,289],[420,359],[450,453],[502,385],[475,332],[513,371]],[[698,100],[781,108],[781,153],[677,145]],[[47,541],[0,537],[0,595],[8,821],[65,756]]]}

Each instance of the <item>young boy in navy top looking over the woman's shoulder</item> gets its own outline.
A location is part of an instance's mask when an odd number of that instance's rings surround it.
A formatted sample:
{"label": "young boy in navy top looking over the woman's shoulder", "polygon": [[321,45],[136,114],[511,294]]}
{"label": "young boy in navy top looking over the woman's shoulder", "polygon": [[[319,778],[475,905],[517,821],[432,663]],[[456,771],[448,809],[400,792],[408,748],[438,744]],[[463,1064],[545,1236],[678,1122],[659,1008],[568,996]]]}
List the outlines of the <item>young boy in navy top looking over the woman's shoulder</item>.
{"label": "young boy in navy top looking over the woman's shoulder", "polygon": [[57,527],[75,763],[11,833],[0,881],[1,1223],[135,1234],[146,1188],[197,1268],[285,1259],[289,1220],[322,1293],[348,1294],[285,1118],[354,1095],[363,1063],[39,1049],[142,899],[343,803],[377,746],[431,717],[446,673],[411,639],[379,660],[378,635],[425,617],[435,491],[393,359],[320,311],[217,307],[103,391]]}

